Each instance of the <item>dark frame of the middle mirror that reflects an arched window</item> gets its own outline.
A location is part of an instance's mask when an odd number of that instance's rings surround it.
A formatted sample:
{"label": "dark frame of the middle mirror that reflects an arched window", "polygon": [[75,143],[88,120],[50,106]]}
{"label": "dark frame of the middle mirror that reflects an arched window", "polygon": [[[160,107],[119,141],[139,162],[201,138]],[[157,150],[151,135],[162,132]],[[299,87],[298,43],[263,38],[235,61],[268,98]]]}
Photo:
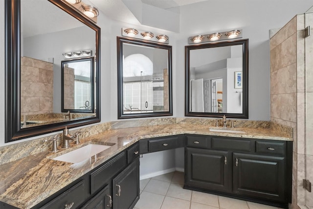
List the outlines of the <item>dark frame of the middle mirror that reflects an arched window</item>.
{"label": "dark frame of the middle mirror that reflects an arched window", "polygon": [[[124,114],[123,113],[123,44],[131,44],[134,46],[148,46],[154,48],[161,48],[168,51],[168,79],[169,79],[169,111],[168,112],[153,112],[153,113],[137,113]],[[136,117],[155,117],[155,116],[173,116],[173,102],[172,102],[172,46],[151,43],[148,41],[141,41],[133,38],[117,37],[117,103],[118,103],[118,119],[136,118]]]}

